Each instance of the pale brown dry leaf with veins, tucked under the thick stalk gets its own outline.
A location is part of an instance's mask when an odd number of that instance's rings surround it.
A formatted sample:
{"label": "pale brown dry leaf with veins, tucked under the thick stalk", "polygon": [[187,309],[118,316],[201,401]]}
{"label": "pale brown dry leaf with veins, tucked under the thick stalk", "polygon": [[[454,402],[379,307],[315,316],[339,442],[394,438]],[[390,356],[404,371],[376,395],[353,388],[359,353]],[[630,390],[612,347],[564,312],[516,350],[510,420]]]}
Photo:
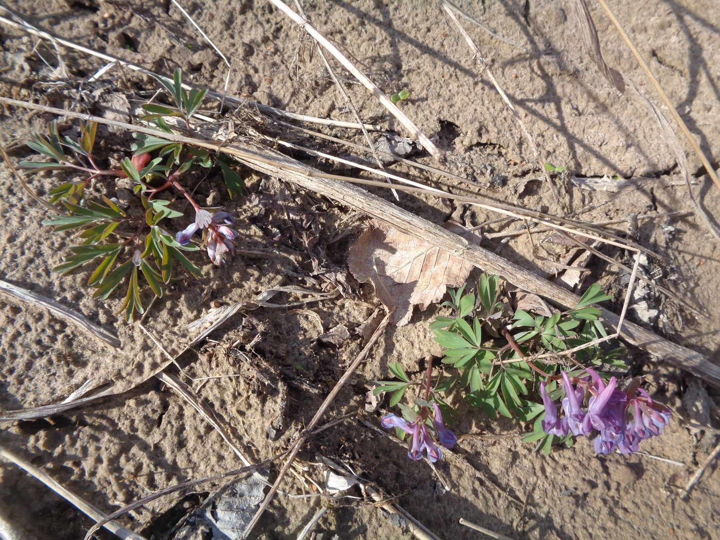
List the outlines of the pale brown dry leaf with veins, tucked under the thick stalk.
{"label": "pale brown dry leaf with veins, tucked under the thick stalk", "polygon": [[348,266],[359,282],[372,282],[397,326],[408,324],[415,305],[425,310],[444,297],[447,287],[462,285],[472,270],[472,264],[449,251],[379,223],[350,248]]}

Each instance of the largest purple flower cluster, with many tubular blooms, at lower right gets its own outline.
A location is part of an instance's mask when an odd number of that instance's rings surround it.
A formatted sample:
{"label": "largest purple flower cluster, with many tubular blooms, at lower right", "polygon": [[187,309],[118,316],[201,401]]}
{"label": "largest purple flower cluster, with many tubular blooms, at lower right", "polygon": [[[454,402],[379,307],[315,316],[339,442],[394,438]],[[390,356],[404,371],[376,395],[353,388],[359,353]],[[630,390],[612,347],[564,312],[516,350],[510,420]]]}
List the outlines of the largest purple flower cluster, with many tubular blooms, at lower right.
{"label": "largest purple flower cluster, with many tubular blooms, at lower right", "polygon": [[[561,372],[565,390],[562,419],[545,389],[545,382],[540,383],[545,405],[545,418],[542,420],[545,433],[590,436],[597,431],[594,444],[598,454],[616,450],[621,454],[632,454],[637,451],[640,441],[660,435],[662,428],[670,422],[670,410],[654,403],[642,388],[633,386],[631,392],[622,392],[617,390],[615,377],[606,384],[593,369],[585,371],[590,379],[580,379],[576,387],[572,386],[567,373]],[[589,395],[588,405],[583,409],[586,393]]]}

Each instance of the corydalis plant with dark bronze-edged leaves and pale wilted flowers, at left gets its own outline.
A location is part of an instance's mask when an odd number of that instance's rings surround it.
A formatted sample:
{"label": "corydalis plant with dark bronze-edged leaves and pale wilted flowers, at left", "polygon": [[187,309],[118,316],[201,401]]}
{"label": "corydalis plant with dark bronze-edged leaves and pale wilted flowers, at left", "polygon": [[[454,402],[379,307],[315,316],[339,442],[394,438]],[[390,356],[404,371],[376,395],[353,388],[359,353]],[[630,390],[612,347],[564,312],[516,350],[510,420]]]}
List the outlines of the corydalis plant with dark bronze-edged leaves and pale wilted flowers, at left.
{"label": "corydalis plant with dark bronze-edged leaves and pale wilted flowers, at left", "polygon": [[[162,78],[161,83],[178,107],[170,109],[146,104],[145,110],[151,114],[145,120],[161,130],[158,135],[173,132],[164,116],[181,117],[189,129],[189,121],[202,104],[206,91],[184,90],[179,70],[172,81]],[[84,178],[67,181],[49,192],[50,203],[57,204],[62,212],[48,217],[43,225],[52,226],[55,232],[73,231],[80,241],[80,245],[71,247],[70,253],[63,256],[63,263],[56,266],[55,271],[65,274],[99,261],[88,282],[95,289],[94,297],[105,300],[125,282],[127,292],[119,312],[124,312],[125,319],[130,321],[135,312],[144,312],[141,279],[161,297],[163,287],[174,279],[175,263],[184,266],[193,276],[200,276],[199,268],[184,254],[199,249],[189,242],[192,235],[184,238],[180,233],[168,232],[179,229],[173,220],[184,217],[183,214],[171,207],[171,200],[160,197],[180,194],[192,205],[195,215],[190,228],[203,230],[201,246],[206,246],[212,262],[220,265],[235,253],[233,240],[237,233],[227,227],[235,222],[235,218],[222,209],[213,209],[215,213],[211,214],[200,207],[185,189],[183,181],[193,166],[211,168],[217,163],[231,197],[242,194],[243,183],[228,159],[214,159],[202,148],[138,133],[132,134],[137,141],[131,148],[132,158],[124,158],[120,168],[102,168],[97,165],[99,159],[94,155],[96,131],[95,122],[80,122],[77,139],[61,138],[58,126],[53,122],[47,135],[36,133],[28,143],[50,161],[22,161],[20,165],[30,172],[65,170],[84,174]],[[140,199],[142,210],[120,207],[117,199],[94,193],[94,182],[108,179],[114,182],[119,178],[132,181],[133,192]]]}

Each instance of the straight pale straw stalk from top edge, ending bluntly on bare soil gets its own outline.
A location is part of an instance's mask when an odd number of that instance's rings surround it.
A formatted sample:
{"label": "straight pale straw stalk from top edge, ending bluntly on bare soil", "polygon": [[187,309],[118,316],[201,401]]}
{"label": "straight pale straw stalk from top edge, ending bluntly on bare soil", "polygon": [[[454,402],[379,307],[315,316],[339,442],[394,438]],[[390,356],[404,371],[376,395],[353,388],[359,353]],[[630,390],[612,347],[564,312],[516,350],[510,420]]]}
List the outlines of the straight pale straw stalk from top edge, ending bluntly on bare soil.
{"label": "straight pale straw stalk from top edge, ending bluntly on bare soil", "polygon": [[310,22],[305,19],[305,17],[301,17],[296,12],[292,11],[292,9],[289,8],[287,4],[285,4],[282,0],[268,0],[271,4],[276,6],[280,11],[282,11],[284,14],[286,14],[290,19],[292,19],[294,22],[296,22],[302,30],[305,30],[308,34],[312,36],[312,38],[318,42],[318,44],[322,45],[325,50],[328,51],[331,55],[333,55],[338,62],[340,62],[343,67],[345,67],[350,73],[353,74],[353,76],[360,81],[360,83],[369,91],[372,92],[372,94],[377,98],[377,100],[382,104],[385,109],[392,114],[395,118],[397,118],[398,121],[405,127],[406,130],[410,132],[410,135],[413,135],[413,138],[415,140],[419,140],[420,144],[423,145],[423,148],[428,150],[428,153],[430,153],[433,158],[439,159],[441,156],[440,150],[438,150],[438,147],[433,144],[433,142],[428,139],[428,136],[425,135],[418,126],[415,125],[415,122],[410,120],[407,116],[405,116],[405,113],[402,112],[400,109],[398,109],[393,102],[390,101],[390,98],[387,97],[387,95],[378,88],[376,84],[374,84],[369,78],[365,76],[364,73],[362,73],[356,66],[348,60],[346,55],[343,55],[343,53],[338,50],[338,48],[333,45],[332,42],[330,42],[324,35],[322,35],[318,30],[310,24]]}

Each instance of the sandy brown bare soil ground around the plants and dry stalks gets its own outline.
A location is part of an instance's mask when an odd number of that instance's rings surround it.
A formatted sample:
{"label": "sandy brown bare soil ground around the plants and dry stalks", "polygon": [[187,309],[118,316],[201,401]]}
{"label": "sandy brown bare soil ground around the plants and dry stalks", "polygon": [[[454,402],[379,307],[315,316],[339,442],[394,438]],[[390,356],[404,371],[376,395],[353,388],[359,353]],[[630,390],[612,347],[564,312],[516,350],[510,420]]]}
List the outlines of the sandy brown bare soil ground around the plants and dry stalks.
{"label": "sandy brown bare soil ground around the plants and dry stalks", "polygon": [[[579,178],[564,179],[560,185],[572,212],[582,212],[582,220],[603,221],[692,210],[686,188],[676,174],[672,153],[660,140],[652,119],[631,98],[610,89],[595,66],[583,57],[580,34],[569,6],[533,0],[482,4],[484,12],[480,3],[462,2],[461,7],[503,37],[536,53],[523,53],[480,30],[472,30],[486,58],[492,60],[500,84],[535,136],[543,158],[570,167],[571,178]],[[652,70],[696,140],[711,160],[716,160],[720,143],[720,73],[716,65],[720,14],[716,3],[649,0],[615,4],[618,17],[650,60]],[[184,5],[232,60],[230,93],[247,94],[258,102],[293,112],[354,120],[326,75],[318,53],[312,50],[312,42],[269,4],[261,0],[219,0],[212,6],[197,2]],[[593,8],[595,4],[590,2],[590,6],[608,63],[655,99],[629,51],[603,15]],[[9,7],[55,35],[161,73],[181,67],[191,84],[222,89],[224,64],[174,7],[93,0],[14,1]],[[478,78],[472,55],[433,2],[410,5],[338,0],[307,2],[305,9],[318,28],[341,45],[385,91],[410,91],[403,110],[429,135],[438,138],[438,144],[449,153],[446,168],[477,180],[485,193],[498,201],[557,215],[564,212],[541,175],[526,164],[531,151],[515,122],[487,79]],[[37,39],[8,27],[0,28],[2,95],[35,101],[47,98],[48,104],[71,107],[77,93],[42,75],[44,64],[32,52]],[[45,46],[39,52],[51,63],[55,61]],[[89,76],[102,66],[100,60],[78,53],[66,53],[65,60],[74,76]],[[343,72],[338,68],[338,73]],[[104,89],[100,95],[153,89],[147,78],[127,71],[110,71],[111,76],[95,87]],[[344,73],[343,79],[351,82]],[[351,85],[351,94],[364,120],[390,125],[402,133],[359,85]],[[33,130],[44,129],[48,120],[19,109],[6,109],[0,116],[0,142],[11,148],[15,160],[30,156],[27,148],[14,145],[28,140]],[[340,136],[363,142],[354,132],[341,132]],[[121,135],[107,135],[103,146],[107,152],[119,151],[125,143]],[[425,155],[416,158],[431,163]],[[701,202],[713,211],[720,202],[720,193],[711,186],[696,158],[691,157],[690,162]],[[507,178],[504,186],[490,182],[485,173],[487,163]],[[716,161],[713,163],[717,166]],[[408,172],[402,166],[393,168]],[[610,181],[610,189],[593,189],[593,180],[616,175],[619,178],[616,184]],[[68,238],[40,226],[44,210],[27,197],[5,166],[0,168],[0,178],[2,279],[73,307],[122,339],[122,349],[111,354],[109,348],[48,312],[0,297],[0,408],[14,410],[60,402],[89,379],[116,381],[130,388],[150,377],[166,359],[137,325],[127,326],[118,320],[114,315],[117,298],[105,304],[91,299],[86,274],[59,279],[51,273]],[[249,172],[246,181],[251,193],[268,189],[261,185],[261,178]],[[32,186],[40,194],[47,192],[49,183],[48,176],[32,179]],[[346,209],[312,193],[302,196],[305,198],[288,194],[288,186],[270,187],[291,201],[302,200],[307,207],[315,205],[324,242],[336,238],[346,227],[342,222],[347,217]],[[228,202],[220,179],[204,182],[198,194],[202,202],[228,204],[230,211],[240,216],[241,248],[266,248],[271,254],[238,256],[222,269],[198,257],[197,261],[204,265],[203,279],[177,284],[145,318],[145,325],[171,351],[181,348],[186,338],[184,325],[212,310],[213,302],[250,300],[279,285],[330,290],[327,284],[310,276],[312,264],[302,246],[269,240],[269,229],[287,226],[282,216],[258,216],[258,207],[248,204],[247,199]],[[452,216],[477,225],[497,217],[415,195],[401,195],[400,204],[435,222]],[[484,232],[517,226],[499,223]],[[348,245],[360,231],[361,227],[356,226],[351,235],[328,245],[333,262],[344,264]],[[622,224],[618,232],[664,256],[665,261],[647,269],[647,274],[708,313],[707,317],[695,318],[676,302],[651,295],[650,307],[660,310],[659,317],[649,321],[653,330],[717,359],[717,240],[701,220],[691,215],[640,221],[631,230]],[[494,249],[499,240],[484,242]],[[618,256],[613,251],[606,253]],[[525,236],[510,240],[500,254],[539,273],[552,271],[542,261],[534,260]],[[616,294],[613,307],[617,309],[623,294],[618,274],[597,259],[591,268],[593,277]],[[248,457],[252,461],[265,459],[285,449],[294,433],[310,420],[348,361],[360,350],[361,337],[354,330],[376,307],[372,289],[365,287],[359,294],[310,303],[301,310],[287,307],[241,312],[211,336],[215,341],[184,356],[179,367],[197,395],[231,426],[235,441]],[[390,376],[387,361],[400,361],[408,372],[416,372],[422,369],[428,354],[438,354],[428,330],[433,314],[433,308],[416,312],[409,325],[384,333],[366,364],[336,399],[328,420],[361,409],[372,381]],[[340,348],[318,340],[320,334],[337,325],[345,325],[351,335]],[[270,367],[261,365],[258,375],[230,351],[235,341],[247,343],[258,332],[261,341],[256,351],[269,366],[282,369],[275,389],[266,386],[260,377],[272,375]],[[438,464],[441,474],[449,480],[449,492],[425,463],[410,462],[400,445],[355,420],[313,438],[301,455],[309,462],[315,460],[316,453],[345,460],[361,477],[395,496],[395,502],[441,538],[481,537],[460,526],[459,518],[514,538],[717,537],[717,466],[706,471],[688,500],[682,500],[678,490],[717,443],[717,432],[711,426],[717,426],[720,420],[716,413],[718,392],[642,351],[632,351],[630,360],[632,373],[647,375],[651,392],[659,400],[683,417],[708,427],[699,431],[689,428],[676,416],[662,437],[647,441],[642,448],[647,454],[682,462],[684,467],[641,454],[598,457],[587,441],[578,441],[572,449],[551,456],[536,454],[520,441],[518,433],[524,431],[523,426],[510,421],[493,422],[462,406],[465,414],[454,426],[456,432],[480,436],[464,438],[457,456]],[[226,374],[241,377],[192,382],[199,377]],[[319,391],[303,390],[294,382],[296,377]],[[287,388],[287,397],[278,390],[281,388]],[[379,413],[374,414],[377,416],[370,418],[378,423]],[[276,431],[275,437],[269,426]],[[48,420],[5,423],[0,444],[32,460],[55,480],[107,512],[161,487],[242,465],[217,432],[156,379]],[[0,516],[22,531],[22,538],[76,539],[91,525],[75,508],[11,464],[0,468],[0,482]],[[293,493],[309,492],[307,485],[300,485],[292,477],[284,488]],[[175,497],[160,499],[132,512],[123,523],[147,537],[172,538],[176,523],[213,490],[212,485],[202,487],[180,502]],[[351,495],[359,492],[351,491]],[[267,539],[295,538],[323,504],[328,505],[328,512],[315,532],[324,532],[324,538],[333,534],[343,539],[410,537],[407,527],[393,525],[372,504],[351,499],[328,504],[320,498],[284,495],[274,500],[258,535]]]}

